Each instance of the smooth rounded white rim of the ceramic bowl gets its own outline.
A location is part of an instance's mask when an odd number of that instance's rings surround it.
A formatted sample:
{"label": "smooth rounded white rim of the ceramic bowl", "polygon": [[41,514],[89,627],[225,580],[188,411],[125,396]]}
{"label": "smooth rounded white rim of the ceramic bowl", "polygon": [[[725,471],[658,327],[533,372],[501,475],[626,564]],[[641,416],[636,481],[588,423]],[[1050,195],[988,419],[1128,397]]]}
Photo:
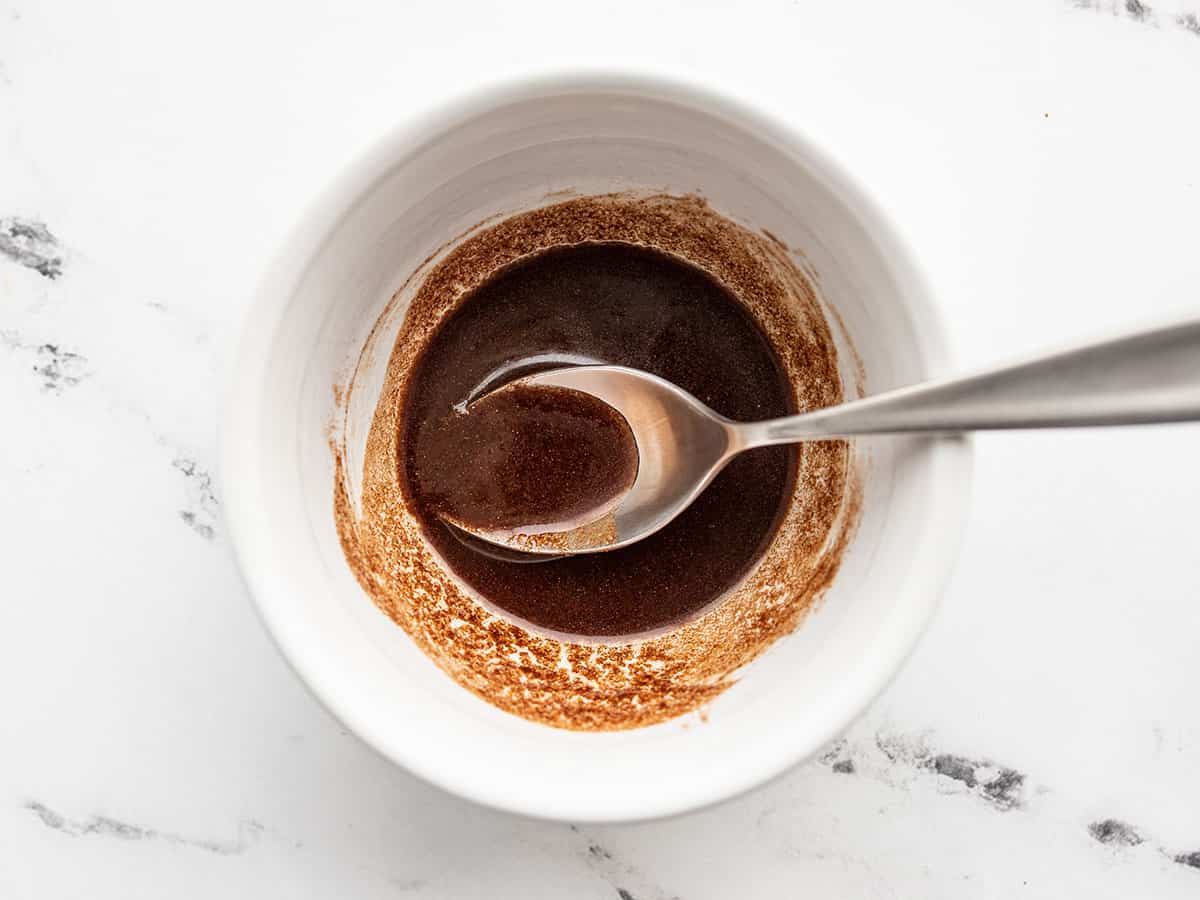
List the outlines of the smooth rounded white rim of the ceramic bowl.
{"label": "smooth rounded white rim of the ceramic bowl", "polygon": [[260,348],[270,346],[274,340],[294,288],[311,265],[316,251],[382,172],[437,136],[494,107],[570,94],[618,94],[676,102],[720,116],[803,157],[806,166],[820,172],[839,200],[859,221],[869,224],[871,240],[887,258],[889,268],[898,270],[904,281],[913,286],[906,308],[918,326],[919,350],[931,376],[947,372],[950,354],[940,306],[901,230],[836,160],[788,121],[762,113],[748,101],[694,77],[679,78],[631,67],[544,70],[470,90],[449,102],[434,102],[421,113],[404,116],[346,163],[316,199],[304,208],[263,271],[230,358],[223,400],[218,476],[230,546],[259,619],[289,667],[336,720],[390,762],[482,805],[538,818],[632,822],[703,809],[784,775],[842,733],[882,692],[916,649],[953,574],[970,509],[972,442],[970,437],[936,438],[925,448],[932,456],[935,491],[929,527],[944,534],[946,540],[941,542],[936,560],[930,557],[923,566],[920,595],[916,596],[913,588],[904,592],[913,595],[906,604],[908,613],[904,618],[904,628],[888,634],[886,653],[872,654],[864,662],[859,677],[854,679],[857,692],[847,697],[839,721],[830,721],[811,746],[781,749],[769,767],[737,770],[721,779],[696,779],[696,788],[688,797],[655,802],[652,794],[646,794],[619,808],[588,810],[580,809],[568,797],[553,797],[552,792],[505,792],[503,787],[492,790],[456,779],[454,772],[438,767],[427,755],[406,752],[407,746],[397,746],[397,742],[388,737],[388,730],[353,715],[337,689],[324,683],[310,665],[306,648],[292,640],[288,634],[288,596],[272,586],[272,570],[277,563],[264,547],[264,514],[253,497],[256,440],[252,432],[268,359]]}

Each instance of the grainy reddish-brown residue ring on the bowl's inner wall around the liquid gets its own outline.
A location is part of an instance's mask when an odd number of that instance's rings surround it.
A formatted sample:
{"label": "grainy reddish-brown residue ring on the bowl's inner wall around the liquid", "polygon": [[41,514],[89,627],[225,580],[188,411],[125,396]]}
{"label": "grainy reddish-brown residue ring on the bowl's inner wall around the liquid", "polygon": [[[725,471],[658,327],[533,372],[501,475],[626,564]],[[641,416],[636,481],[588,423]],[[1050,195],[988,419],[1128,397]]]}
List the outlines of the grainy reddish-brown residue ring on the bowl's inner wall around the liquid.
{"label": "grainy reddish-brown residue ring on the bowl's inner wall around the liquid", "polygon": [[[335,443],[334,508],[346,558],[376,605],[462,686],[546,725],[619,730],[701,710],[800,623],[829,587],[858,520],[846,442],[798,454],[796,490],[758,565],[698,618],[642,640],[535,634],[486,607],[438,560],[398,484],[396,434],[413,361],[439,322],[497,270],[548,247],[625,241],[707,270],[751,311],[808,410],[841,402],[838,354],[810,281],[781,247],[696,197],[582,197],[472,232],[416,289],[366,442],[359,503]],[[355,390],[352,380],[348,391]]]}

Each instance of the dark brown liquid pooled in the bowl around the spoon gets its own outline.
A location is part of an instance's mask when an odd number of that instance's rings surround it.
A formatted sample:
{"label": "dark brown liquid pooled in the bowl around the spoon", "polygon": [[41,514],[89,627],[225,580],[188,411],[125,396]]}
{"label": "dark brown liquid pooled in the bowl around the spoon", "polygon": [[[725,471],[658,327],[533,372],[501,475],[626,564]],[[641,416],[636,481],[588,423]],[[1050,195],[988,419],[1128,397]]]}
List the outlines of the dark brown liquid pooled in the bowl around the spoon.
{"label": "dark brown liquid pooled in the bowl around the spoon", "polygon": [[523,361],[545,367],[547,354],[548,365],[587,359],[646,370],[748,421],[794,412],[774,350],[701,269],[634,245],[586,244],[539,253],[479,287],[438,326],[409,382],[401,484],[428,540],[474,590],[572,635],[635,635],[690,618],[766,550],[792,490],[793,449],[740,455],[646,540],[548,563],[502,562],[464,546],[422,493],[420,473],[454,406],[497,372],[523,373]]}

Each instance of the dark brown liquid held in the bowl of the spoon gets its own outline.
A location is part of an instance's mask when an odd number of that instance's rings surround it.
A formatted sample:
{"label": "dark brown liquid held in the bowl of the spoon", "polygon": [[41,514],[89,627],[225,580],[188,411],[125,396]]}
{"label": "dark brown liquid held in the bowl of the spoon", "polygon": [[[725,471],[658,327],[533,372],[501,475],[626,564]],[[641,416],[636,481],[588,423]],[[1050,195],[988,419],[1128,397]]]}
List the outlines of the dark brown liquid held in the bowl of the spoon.
{"label": "dark brown liquid held in the bowl of the spoon", "polygon": [[517,384],[426,422],[410,474],[431,510],[470,530],[562,532],[630,488],[637,444],[590,394]]}

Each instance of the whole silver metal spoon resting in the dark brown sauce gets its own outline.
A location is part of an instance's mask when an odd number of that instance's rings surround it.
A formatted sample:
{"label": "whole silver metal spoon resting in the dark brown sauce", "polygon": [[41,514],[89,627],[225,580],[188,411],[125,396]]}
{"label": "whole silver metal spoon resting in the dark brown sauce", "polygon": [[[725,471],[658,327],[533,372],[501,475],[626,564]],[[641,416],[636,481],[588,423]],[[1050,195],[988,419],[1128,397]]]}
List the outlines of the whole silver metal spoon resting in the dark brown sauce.
{"label": "whole silver metal spoon resting in the dark brown sauce", "polygon": [[625,416],[638,452],[637,478],[606,528],[518,542],[474,533],[504,547],[503,558],[532,562],[617,550],[654,534],[730,460],[756,446],[864,434],[1200,420],[1200,322],[761,422],[730,421],[670,382],[623,366],[553,368],[521,382],[595,395]]}

